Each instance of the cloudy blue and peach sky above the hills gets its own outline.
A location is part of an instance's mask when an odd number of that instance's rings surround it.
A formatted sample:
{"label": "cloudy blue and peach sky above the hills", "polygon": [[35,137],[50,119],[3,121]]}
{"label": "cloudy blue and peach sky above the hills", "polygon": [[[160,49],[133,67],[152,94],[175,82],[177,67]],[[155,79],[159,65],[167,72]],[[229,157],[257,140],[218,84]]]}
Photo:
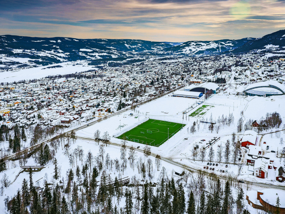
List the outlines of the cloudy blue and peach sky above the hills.
{"label": "cloudy blue and peach sky above the hills", "polygon": [[0,34],[189,40],[285,29],[285,0],[0,0]]}

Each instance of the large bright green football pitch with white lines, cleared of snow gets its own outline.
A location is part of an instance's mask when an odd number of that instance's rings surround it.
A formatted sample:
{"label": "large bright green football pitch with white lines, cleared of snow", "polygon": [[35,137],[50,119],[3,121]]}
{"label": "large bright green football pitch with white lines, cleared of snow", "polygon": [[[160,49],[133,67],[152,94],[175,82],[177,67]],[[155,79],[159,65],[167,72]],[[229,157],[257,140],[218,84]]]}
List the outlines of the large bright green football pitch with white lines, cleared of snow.
{"label": "large bright green football pitch with white lines, cleared of snow", "polygon": [[183,126],[185,124],[149,119],[117,138],[125,137],[129,141],[158,147],[180,131]]}

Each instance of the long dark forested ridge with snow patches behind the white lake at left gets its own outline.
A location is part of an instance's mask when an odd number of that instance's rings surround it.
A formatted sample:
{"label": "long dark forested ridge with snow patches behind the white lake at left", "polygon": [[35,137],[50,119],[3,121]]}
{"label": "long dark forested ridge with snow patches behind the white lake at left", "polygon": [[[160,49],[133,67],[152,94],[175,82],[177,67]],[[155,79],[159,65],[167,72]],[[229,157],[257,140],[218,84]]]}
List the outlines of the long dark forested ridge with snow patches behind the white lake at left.
{"label": "long dark forested ridge with snow patches behind the white lake at left", "polygon": [[39,65],[78,59],[116,58],[151,53],[173,47],[163,42],[129,39],[40,38],[0,36],[0,55],[30,58]]}

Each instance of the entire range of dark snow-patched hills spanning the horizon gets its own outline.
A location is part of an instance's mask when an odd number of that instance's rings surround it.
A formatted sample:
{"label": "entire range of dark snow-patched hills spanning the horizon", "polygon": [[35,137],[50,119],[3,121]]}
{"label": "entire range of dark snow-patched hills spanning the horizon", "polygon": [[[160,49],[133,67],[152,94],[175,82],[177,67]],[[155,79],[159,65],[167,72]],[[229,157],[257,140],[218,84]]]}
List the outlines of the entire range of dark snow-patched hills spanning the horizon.
{"label": "entire range of dark snow-patched hills spanning the horizon", "polygon": [[[75,39],[0,36],[0,71],[76,60],[127,59],[145,55],[219,55],[285,52],[285,30],[239,40],[153,42],[131,39]],[[3,61],[3,57],[6,59]],[[116,59],[115,59],[116,58]],[[98,63],[93,63],[98,64]],[[93,65],[92,64],[92,65]]]}

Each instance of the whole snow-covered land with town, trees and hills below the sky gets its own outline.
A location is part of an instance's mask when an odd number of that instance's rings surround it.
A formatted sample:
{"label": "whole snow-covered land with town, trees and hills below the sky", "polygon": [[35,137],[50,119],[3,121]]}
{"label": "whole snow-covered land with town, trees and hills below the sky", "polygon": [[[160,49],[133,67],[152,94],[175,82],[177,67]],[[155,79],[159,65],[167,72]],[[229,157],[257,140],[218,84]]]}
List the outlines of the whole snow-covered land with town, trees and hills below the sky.
{"label": "whole snow-covered land with town, trees and hills below the sky", "polygon": [[284,34],[0,36],[0,213],[285,213]]}

